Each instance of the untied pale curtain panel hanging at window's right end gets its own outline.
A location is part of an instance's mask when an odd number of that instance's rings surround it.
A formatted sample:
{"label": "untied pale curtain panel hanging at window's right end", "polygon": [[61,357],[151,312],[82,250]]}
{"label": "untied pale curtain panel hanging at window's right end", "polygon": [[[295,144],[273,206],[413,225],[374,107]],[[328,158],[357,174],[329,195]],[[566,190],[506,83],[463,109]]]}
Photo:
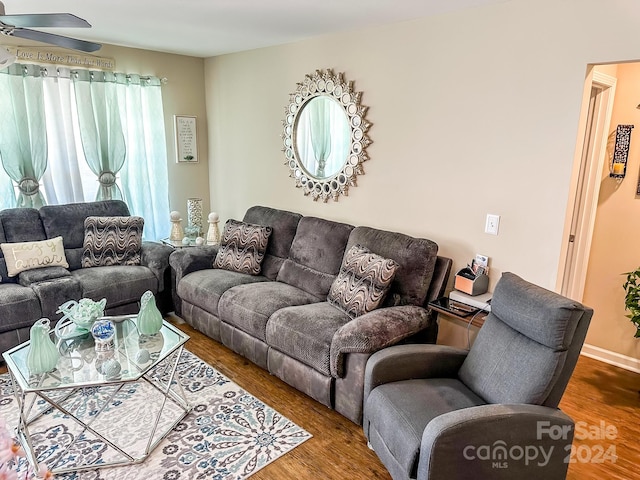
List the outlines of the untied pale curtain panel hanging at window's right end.
{"label": "untied pale curtain panel hanging at window's right end", "polygon": [[144,237],[169,236],[169,179],[167,142],[162,108],[162,87],[157,77],[117,75],[120,118],[127,160],[121,184],[132,212],[144,218]]}

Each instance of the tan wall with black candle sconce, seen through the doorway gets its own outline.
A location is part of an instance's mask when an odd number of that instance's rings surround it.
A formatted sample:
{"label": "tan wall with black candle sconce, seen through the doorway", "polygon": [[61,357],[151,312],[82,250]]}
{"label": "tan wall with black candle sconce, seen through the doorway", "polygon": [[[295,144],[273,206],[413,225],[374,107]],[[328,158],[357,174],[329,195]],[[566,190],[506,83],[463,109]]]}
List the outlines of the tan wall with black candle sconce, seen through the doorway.
{"label": "tan wall with black candle sconce, seen through the doorway", "polygon": [[[602,71],[602,69],[601,69]],[[610,133],[620,124],[635,124],[631,134],[627,174],[618,183],[609,177],[605,162],[589,257],[584,302],[595,314],[587,343],[633,358],[640,358],[635,328],[625,317],[623,272],[640,266],[640,197],[636,188],[640,171],[640,63],[618,65],[606,72],[617,78]],[[612,153],[612,152],[611,152]]]}

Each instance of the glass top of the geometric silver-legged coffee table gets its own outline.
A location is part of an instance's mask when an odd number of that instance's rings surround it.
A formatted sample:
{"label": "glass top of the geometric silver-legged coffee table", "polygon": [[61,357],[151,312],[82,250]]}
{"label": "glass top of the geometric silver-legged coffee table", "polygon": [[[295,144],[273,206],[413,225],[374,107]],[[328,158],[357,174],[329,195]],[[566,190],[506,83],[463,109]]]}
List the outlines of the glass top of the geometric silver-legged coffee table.
{"label": "glass top of the geometric silver-legged coffee table", "polygon": [[[144,336],[138,333],[135,315],[103,318],[111,319],[116,327],[113,348],[96,349],[89,332],[73,331],[77,327],[70,324],[61,331],[65,338],[58,339],[52,333],[61,354],[53,372],[30,375],[27,368],[29,342],[5,352],[3,357],[20,388],[29,392],[135,381],[189,339],[166,321],[156,335]],[[110,368],[106,368],[105,363]]]}

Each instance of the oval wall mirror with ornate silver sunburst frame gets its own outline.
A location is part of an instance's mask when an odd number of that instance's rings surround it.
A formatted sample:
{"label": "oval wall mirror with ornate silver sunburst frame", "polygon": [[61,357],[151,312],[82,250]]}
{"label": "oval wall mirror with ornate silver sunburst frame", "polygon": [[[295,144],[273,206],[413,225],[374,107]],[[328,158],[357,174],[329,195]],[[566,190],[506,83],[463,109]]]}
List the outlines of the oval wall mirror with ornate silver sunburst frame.
{"label": "oval wall mirror with ornate silver sunburst frame", "polygon": [[283,121],[285,163],[296,187],[313,200],[337,201],[364,174],[371,124],[361,96],[330,69],[306,75],[291,94]]}

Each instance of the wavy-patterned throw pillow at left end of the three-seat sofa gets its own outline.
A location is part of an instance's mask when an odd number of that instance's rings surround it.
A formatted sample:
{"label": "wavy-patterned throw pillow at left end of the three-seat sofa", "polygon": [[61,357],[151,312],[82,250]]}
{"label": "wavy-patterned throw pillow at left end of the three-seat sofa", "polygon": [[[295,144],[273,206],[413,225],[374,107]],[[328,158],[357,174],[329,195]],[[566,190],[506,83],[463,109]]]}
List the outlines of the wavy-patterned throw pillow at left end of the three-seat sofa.
{"label": "wavy-patterned throw pillow at left end of the three-seat sofa", "polygon": [[258,275],[267,251],[271,227],[227,220],[214,268]]}

